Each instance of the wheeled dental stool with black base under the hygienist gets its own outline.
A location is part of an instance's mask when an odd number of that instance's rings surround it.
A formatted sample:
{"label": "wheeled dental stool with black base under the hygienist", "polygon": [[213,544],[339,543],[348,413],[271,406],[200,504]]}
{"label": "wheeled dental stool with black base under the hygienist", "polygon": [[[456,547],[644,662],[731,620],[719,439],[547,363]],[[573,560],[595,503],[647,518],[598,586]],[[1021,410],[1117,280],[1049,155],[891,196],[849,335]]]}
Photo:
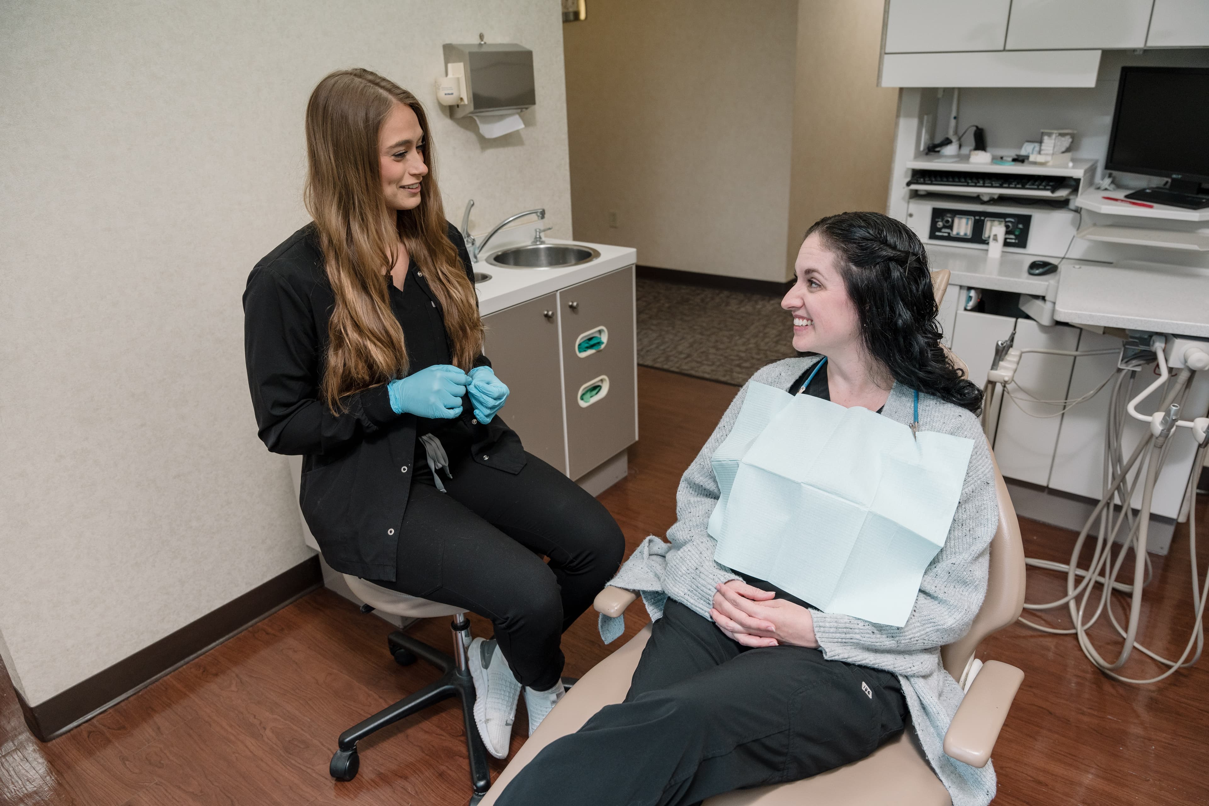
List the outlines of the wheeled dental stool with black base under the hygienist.
{"label": "wheeled dental stool with black base under the hygienist", "polygon": [[462,721],[465,726],[467,756],[470,761],[470,785],[474,788],[474,795],[470,798],[473,806],[473,804],[479,802],[491,785],[491,773],[487,769],[487,748],[484,747],[482,738],[474,724],[474,682],[470,679],[470,667],[467,662],[467,649],[470,645],[470,622],[467,621],[465,611],[451,604],[440,604],[399,593],[348,574],[345,574],[345,581],[348,582],[353,593],[365,602],[361,608],[365,613],[381,610],[406,619],[453,616],[453,622],[450,625],[453,633],[453,655],[446,655],[399,631],[387,636],[387,649],[397,663],[407,666],[415,663],[417,657],[422,657],[441,669],[444,674],[435,683],[404,697],[388,708],[383,708],[341,733],[340,749],[331,756],[331,766],[329,767],[331,777],[336,781],[352,781],[357,776],[357,770],[360,766],[357,742],[370,733],[449,697],[458,697],[462,706]]}

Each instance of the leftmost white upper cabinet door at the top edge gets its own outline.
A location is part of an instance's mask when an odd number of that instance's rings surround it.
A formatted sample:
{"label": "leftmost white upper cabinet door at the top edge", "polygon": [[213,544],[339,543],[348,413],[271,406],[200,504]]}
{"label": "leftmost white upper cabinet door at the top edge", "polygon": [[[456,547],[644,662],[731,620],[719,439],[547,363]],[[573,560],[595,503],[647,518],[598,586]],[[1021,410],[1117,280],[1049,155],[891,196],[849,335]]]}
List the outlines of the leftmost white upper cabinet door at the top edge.
{"label": "leftmost white upper cabinet door at the top edge", "polygon": [[886,53],[1002,51],[1011,0],[890,0]]}

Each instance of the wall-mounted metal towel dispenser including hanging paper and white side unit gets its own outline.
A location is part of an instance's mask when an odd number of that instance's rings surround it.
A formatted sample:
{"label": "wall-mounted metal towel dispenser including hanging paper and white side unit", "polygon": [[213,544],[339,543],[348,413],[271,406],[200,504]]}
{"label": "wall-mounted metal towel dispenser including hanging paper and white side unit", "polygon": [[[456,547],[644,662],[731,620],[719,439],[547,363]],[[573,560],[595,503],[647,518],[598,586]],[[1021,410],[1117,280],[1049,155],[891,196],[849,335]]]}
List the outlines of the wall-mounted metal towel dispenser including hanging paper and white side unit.
{"label": "wall-mounted metal towel dispenser including hanging paper and white side unit", "polygon": [[525,127],[520,114],[537,103],[533,51],[485,42],[446,44],[444,50],[446,77],[438,82],[438,99],[451,117],[474,117],[486,138]]}

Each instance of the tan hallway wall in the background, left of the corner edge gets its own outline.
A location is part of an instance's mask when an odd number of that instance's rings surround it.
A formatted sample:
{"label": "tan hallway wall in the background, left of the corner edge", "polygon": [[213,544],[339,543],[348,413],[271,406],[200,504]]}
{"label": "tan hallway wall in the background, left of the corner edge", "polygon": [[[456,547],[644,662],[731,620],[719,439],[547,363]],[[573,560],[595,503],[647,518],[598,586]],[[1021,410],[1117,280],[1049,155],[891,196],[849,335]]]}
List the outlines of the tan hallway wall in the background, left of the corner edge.
{"label": "tan hallway wall in the background, left of the corner edge", "polygon": [[594,0],[563,27],[575,238],[646,266],[783,278],[797,13]]}

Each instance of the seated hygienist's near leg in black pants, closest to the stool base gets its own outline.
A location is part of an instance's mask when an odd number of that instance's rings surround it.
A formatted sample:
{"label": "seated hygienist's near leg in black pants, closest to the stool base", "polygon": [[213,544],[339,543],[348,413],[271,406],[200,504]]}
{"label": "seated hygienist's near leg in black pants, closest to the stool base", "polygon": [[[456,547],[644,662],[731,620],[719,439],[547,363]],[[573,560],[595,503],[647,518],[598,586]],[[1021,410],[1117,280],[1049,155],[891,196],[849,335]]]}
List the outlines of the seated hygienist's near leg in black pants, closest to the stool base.
{"label": "seated hygienist's near leg in black pants, closest to the stool base", "polygon": [[395,581],[371,581],[491,619],[521,684],[545,690],[557,683],[562,601],[537,555],[423,483],[411,486],[400,535]]}

